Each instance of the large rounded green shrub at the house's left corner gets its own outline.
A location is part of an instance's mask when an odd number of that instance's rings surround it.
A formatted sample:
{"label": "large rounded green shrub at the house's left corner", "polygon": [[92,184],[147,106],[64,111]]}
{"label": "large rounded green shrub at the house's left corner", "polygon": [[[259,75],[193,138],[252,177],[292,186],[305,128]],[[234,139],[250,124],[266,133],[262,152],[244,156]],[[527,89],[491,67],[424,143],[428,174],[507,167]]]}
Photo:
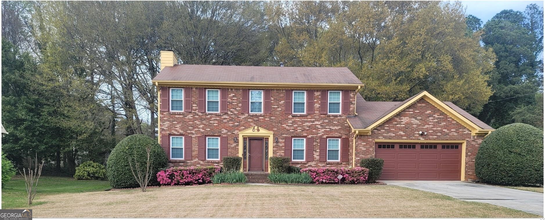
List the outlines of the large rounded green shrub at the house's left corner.
{"label": "large rounded green shrub at the house's left corner", "polygon": [[131,135],[121,140],[116,147],[112,150],[108,162],[106,163],[106,174],[110,185],[113,188],[132,188],[140,187],[132,175],[131,168],[129,167],[128,156],[130,155],[132,166],[134,166],[135,155],[136,161],[142,164],[142,173],[146,172],[146,146],[152,146],[150,152],[150,163],[152,169],[152,181],[150,186],[158,185],[157,178],[155,178],[159,170],[167,166],[167,156],[165,151],[157,143],[156,140],[146,135]]}

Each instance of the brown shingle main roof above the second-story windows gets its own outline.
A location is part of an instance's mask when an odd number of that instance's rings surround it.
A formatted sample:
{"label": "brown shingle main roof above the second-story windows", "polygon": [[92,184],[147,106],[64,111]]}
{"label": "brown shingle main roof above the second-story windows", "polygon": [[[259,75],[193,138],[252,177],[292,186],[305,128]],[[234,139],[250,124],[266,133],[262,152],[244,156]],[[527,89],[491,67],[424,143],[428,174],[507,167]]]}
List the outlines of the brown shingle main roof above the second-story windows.
{"label": "brown shingle main roof above the second-story windows", "polygon": [[154,81],[362,84],[346,67],[221,66],[176,64]]}

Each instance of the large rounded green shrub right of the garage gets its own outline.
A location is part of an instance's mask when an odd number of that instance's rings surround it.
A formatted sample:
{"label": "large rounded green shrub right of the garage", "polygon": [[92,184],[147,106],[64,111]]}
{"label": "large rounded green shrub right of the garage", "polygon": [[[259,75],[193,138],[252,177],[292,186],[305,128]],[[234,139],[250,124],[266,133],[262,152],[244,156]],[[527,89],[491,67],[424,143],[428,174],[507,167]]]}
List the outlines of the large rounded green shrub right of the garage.
{"label": "large rounded green shrub right of the garage", "polygon": [[514,123],[493,131],[475,156],[475,174],[500,185],[543,185],[543,131]]}

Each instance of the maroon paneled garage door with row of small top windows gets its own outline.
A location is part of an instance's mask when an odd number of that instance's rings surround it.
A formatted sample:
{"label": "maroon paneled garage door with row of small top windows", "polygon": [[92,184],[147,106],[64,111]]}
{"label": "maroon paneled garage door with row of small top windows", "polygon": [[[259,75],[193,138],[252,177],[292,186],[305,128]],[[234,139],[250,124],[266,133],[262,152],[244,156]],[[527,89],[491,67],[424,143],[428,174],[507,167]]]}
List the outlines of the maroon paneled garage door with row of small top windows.
{"label": "maroon paneled garage door with row of small top windows", "polygon": [[376,143],[384,159],[380,180],[460,180],[462,144]]}

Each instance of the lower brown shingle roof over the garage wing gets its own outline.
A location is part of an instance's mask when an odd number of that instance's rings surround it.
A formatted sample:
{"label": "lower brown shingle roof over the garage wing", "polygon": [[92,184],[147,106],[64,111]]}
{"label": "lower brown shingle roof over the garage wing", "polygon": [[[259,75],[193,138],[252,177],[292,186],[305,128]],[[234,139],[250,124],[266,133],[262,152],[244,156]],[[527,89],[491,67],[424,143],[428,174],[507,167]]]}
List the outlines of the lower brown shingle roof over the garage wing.
{"label": "lower brown shingle roof over the garage wing", "polygon": [[[403,102],[369,102],[365,101],[364,97],[358,94],[356,96],[356,113],[358,113],[358,115],[355,115],[354,117],[348,117],[348,121],[350,122],[350,125],[354,127],[354,129],[365,129],[367,126],[385,117],[387,114],[394,111],[399,106],[403,105],[404,103],[408,102],[409,100],[413,99],[413,97],[419,94],[416,94],[409,99],[404,100]],[[481,129],[494,129],[493,127],[490,127],[486,123],[483,123],[481,120],[464,111],[462,108],[454,105],[454,103],[443,103],[451,107],[454,111],[458,112],[463,117],[475,123],[477,126],[481,127]]]}

